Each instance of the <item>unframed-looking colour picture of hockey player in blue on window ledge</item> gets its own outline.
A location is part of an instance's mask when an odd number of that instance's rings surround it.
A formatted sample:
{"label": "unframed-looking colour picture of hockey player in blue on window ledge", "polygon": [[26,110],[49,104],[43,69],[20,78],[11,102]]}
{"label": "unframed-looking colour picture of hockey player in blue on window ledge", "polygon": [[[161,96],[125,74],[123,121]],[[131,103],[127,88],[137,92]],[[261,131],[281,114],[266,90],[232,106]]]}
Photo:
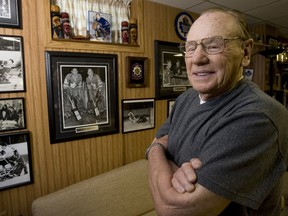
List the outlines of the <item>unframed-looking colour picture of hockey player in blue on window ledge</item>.
{"label": "unframed-looking colour picture of hockey player in blue on window ledge", "polygon": [[111,14],[88,11],[88,32],[91,41],[111,42]]}

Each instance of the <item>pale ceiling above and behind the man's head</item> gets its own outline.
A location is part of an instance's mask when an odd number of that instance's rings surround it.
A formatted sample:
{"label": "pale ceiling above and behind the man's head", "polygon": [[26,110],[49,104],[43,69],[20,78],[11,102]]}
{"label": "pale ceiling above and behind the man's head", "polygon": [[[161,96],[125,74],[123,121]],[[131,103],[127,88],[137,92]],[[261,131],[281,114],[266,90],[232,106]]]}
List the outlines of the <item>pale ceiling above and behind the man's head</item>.
{"label": "pale ceiling above and behind the man's head", "polygon": [[150,0],[200,14],[211,7],[237,9],[249,25],[267,23],[288,38],[288,0]]}

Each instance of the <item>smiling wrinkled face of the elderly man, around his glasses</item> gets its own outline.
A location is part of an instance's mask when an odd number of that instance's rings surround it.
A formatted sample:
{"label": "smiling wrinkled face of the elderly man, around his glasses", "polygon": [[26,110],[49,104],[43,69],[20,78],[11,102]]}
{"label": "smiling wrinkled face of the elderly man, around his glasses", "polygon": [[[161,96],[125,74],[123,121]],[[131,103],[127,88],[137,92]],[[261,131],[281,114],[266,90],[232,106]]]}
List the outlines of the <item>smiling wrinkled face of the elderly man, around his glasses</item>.
{"label": "smiling wrinkled face of the elderly man, around his glasses", "polygon": [[[203,38],[222,36],[240,37],[234,18],[225,13],[213,12],[200,16],[189,30],[187,41],[200,42]],[[242,76],[243,41],[225,41],[225,48],[217,54],[207,54],[198,45],[191,57],[185,58],[188,78],[202,99],[216,97],[237,83]]]}

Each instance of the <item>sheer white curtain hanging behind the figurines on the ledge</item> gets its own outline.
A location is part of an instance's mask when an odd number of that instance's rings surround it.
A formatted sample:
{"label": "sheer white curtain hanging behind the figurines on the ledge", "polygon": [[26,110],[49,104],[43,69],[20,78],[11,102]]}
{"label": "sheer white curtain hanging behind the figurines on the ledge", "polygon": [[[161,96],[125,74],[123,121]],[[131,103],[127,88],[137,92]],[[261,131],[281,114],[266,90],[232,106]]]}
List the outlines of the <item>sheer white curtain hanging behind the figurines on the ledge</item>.
{"label": "sheer white curtain hanging behind the figurines on the ledge", "polygon": [[67,12],[74,35],[86,36],[88,11],[110,14],[112,23],[112,42],[122,43],[121,22],[129,21],[130,3],[132,0],[51,0],[58,5],[60,12]]}

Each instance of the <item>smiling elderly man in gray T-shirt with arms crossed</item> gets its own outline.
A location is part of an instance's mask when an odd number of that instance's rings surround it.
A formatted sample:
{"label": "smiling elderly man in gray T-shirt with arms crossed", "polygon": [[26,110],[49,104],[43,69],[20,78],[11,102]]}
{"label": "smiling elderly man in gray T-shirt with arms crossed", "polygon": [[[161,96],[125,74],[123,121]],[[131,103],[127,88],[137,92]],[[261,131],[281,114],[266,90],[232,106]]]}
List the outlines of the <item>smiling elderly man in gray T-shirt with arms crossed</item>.
{"label": "smiling elderly man in gray T-shirt with arms crossed", "polygon": [[253,40],[236,11],[201,14],[182,46],[193,88],[147,149],[159,215],[280,214],[288,112],[243,78]]}

